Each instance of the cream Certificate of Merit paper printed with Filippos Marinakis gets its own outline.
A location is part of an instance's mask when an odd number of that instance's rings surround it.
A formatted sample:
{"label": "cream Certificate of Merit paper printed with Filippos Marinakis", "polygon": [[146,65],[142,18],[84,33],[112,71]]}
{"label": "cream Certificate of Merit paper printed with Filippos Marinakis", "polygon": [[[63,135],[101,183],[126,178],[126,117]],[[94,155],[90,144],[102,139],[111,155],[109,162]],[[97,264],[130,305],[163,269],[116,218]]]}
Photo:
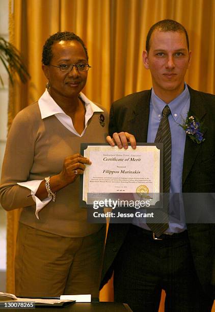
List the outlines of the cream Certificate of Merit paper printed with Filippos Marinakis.
{"label": "cream Certificate of Merit paper printed with Filippos Marinakis", "polygon": [[83,175],[82,200],[89,194],[159,194],[163,187],[163,144],[138,144],[136,149],[82,143],[82,154],[92,162]]}

